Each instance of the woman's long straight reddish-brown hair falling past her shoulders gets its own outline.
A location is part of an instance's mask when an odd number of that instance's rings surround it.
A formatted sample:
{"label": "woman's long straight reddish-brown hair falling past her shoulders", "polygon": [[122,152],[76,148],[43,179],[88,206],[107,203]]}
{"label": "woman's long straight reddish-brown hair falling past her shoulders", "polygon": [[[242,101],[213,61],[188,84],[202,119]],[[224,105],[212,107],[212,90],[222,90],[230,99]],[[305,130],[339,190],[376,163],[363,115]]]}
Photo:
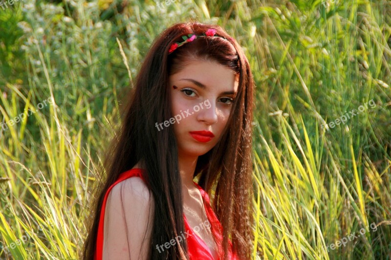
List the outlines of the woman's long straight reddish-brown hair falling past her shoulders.
{"label": "woman's long straight reddish-brown hair falling past her shoulders", "polygon": [[[168,55],[174,42],[183,35],[202,35],[216,29],[221,37],[200,37],[178,47]],[[200,156],[195,167],[198,184],[210,195],[212,208],[223,227],[224,259],[228,239],[239,259],[249,259],[253,241],[252,206],[252,117],[253,90],[249,62],[239,44],[217,25],[199,22],[177,23],[163,31],[152,43],[142,63],[136,83],[129,94],[125,117],[118,137],[106,155],[102,181],[93,194],[91,224],[84,244],[83,259],[93,259],[98,223],[104,196],[118,176],[130,170],[139,160],[145,162],[145,175],[154,200],[154,220],[149,259],[181,259],[187,253],[186,241],[163,252],[155,246],[184,233],[183,201],[178,166],[178,149],[172,127],[156,131],[155,122],[172,117],[169,76],[177,73],[189,59],[212,60],[235,71],[239,77],[236,99],[225,131],[216,146]],[[227,199],[229,198],[229,199]],[[131,203],[130,201],[127,203]],[[180,248],[181,247],[181,248]]]}

